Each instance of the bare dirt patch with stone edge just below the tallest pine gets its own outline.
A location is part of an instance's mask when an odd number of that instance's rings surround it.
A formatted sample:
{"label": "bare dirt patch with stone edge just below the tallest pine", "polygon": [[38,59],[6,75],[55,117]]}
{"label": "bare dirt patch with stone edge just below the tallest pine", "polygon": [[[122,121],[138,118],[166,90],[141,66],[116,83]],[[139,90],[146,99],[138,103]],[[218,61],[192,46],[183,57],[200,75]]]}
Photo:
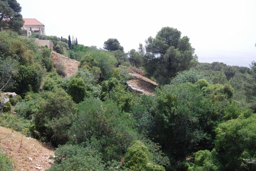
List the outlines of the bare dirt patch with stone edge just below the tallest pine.
{"label": "bare dirt patch with stone edge just below the tallest pine", "polygon": [[140,73],[129,73],[129,75],[133,78],[126,82],[127,86],[136,92],[141,94],[153,94],[155,88],[158,86],[158,83],[142,76]]}

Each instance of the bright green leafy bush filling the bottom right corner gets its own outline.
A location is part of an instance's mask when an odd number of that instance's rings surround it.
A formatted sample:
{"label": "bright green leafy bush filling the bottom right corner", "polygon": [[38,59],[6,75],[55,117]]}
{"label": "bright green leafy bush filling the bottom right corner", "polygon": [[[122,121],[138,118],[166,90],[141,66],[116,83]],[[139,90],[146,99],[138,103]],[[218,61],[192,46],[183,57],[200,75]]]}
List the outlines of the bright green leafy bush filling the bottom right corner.
{"label": "bright green leafy bush filling the bottom right corner", "polygon": [[215,149],[224,170],[255,170],[256,115],[239,117],[219,124]]}

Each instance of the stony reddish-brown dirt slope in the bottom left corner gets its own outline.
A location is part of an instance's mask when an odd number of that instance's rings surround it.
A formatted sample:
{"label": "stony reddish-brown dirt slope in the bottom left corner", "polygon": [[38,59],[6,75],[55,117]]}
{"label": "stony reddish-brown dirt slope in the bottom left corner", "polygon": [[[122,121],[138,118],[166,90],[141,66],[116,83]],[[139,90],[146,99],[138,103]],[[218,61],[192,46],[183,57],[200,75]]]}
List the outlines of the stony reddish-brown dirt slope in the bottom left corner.
{"label": "stony reddish-brown dirt slope in the bottom left corner", "polygon": [[0,127],[0,148],[12,159],[14,170],[17,171],[43,171],[53,163],[50,160],[53,150],[34,138],[22,137],[21,133],[8,128]]}

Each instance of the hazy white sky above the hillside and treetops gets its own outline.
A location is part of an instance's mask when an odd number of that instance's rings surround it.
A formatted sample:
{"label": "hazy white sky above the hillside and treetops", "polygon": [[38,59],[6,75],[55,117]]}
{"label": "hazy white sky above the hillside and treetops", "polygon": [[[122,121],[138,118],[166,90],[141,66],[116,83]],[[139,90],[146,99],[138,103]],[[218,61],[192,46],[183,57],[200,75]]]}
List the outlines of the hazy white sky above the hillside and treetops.
{"label": "hazy white sky above the hillside and treetops", "polygon": [[256,60],[256,0],[17,0],[23,18],[44,23],[47,35],[103,47],[117,38],[138,49],[162,27],[187,35],[199,62],[249,66]]}

